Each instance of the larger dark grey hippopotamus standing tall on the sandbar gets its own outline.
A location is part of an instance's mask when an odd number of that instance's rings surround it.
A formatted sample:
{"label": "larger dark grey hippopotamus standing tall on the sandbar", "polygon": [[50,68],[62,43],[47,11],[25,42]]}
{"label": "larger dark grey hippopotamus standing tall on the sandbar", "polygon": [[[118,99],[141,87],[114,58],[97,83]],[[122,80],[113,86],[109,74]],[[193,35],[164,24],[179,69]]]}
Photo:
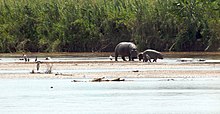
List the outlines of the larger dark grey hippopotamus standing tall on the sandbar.
{"label": "larger dark grey hippopotamus standing tall on the sandbar", "polygon": [[118,56],[126,61],[125,57],[129,58],[129,61],[134,61],[137,58],[137,46],[132,42],[121,42],[115,47],[115,61]]}

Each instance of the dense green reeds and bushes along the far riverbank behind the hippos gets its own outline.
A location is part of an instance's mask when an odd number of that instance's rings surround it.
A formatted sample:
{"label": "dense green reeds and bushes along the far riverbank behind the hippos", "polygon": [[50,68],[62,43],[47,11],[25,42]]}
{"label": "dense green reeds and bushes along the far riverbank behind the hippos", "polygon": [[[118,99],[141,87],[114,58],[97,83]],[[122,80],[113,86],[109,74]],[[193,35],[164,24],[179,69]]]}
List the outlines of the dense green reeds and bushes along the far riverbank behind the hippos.
{"label": "dense green reeds and bushes along the far riverbank behind the hippos", "polygon": [[0,0],[0,52],[216,51],[219,0]]}

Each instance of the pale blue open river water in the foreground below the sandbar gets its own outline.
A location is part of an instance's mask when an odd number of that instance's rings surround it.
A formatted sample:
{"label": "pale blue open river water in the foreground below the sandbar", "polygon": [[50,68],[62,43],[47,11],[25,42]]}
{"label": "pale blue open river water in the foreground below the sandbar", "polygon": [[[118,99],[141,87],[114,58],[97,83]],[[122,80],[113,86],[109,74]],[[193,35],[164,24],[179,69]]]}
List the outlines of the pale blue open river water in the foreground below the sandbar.
{"label": "pale blue open river water in the foreground below the sandbar", "polygon": [[[78,79],[80,80],[80,79]],[[220,113],[219,78],[0,79],[1,113]]]}

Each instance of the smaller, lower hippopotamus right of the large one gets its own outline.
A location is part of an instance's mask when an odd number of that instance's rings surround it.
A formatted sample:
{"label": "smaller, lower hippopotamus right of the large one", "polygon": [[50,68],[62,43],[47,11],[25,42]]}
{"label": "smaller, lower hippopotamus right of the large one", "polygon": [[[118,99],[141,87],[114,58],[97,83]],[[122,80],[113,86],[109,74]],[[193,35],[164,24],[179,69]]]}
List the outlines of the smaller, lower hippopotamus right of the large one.
{"label": "smaller, lower hippopotamus right of the large one", "polygon": [[[163,59],[163,55],[152,49],[147,49],[144,52],[138,54],[139,60],[145,59],[143,61],[147,62],[148,60],[151,62],[150,59],[153,59],[153,62],[157,62],[157,59]],[[150,59],[149,59],[150,58]]]}

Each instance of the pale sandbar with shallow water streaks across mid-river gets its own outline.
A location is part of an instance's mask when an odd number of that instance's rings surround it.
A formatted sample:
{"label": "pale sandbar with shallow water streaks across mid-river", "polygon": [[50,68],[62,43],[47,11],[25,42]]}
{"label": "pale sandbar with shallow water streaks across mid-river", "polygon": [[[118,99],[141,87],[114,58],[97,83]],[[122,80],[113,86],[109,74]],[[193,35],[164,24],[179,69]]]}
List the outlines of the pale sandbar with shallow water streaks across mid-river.
{"label": "pale sandbar with shallow water streaks across mid-river", "polygon": [[[52,74],[44,74],[48,65],[52,66]],[[48,62],[42,63],[41,73],[0,73],[0,78],[205,78],[219,77],[220,64],[209,63],[143,63],[115,62],[115,61],[74,61],[74,62]],[[109,71],[90,72],[97,69],[110,69]],[[115,70],[114,70],[115,69]],[[126,71],[120,69],[128,69]],[[0,63],[0,70],[28,70],[36,71],[35,62]],[[60,70],[61,72],[54,72]],[[80,70],[82,72],[65,73],[62,70]],[[90,70],[90,71],[89,71]],[[117,70],[117,71],[116,71]]]}

